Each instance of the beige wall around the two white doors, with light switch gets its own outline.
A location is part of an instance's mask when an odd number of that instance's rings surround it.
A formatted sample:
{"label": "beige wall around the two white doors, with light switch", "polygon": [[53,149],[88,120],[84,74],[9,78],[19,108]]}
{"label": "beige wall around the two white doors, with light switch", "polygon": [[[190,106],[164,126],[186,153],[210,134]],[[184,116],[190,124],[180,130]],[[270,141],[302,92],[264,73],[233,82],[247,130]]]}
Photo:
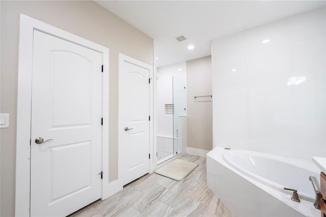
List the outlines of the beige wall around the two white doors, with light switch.
{"label": "beige wall around the two white doors, with light switch", "polygon": [[110,48],[109,180],[118,176],[118,53],[153,65],[153,40],[92,1],[1,2],[1,216],[14,216],[19,14],[23,13]]}

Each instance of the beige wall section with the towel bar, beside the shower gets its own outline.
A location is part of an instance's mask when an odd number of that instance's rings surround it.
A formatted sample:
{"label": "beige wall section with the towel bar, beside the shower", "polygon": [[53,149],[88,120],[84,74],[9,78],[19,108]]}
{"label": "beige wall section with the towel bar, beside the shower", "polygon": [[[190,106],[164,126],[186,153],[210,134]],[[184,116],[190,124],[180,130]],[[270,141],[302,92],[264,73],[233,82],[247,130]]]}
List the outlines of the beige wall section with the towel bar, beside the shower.
{"label": "beige wall section with the towel bar, beside the shower", "polygon": [[187,147],[211,150],[212,102],[211,98],[198,98],[212,94],[211,56],[187,61]]}

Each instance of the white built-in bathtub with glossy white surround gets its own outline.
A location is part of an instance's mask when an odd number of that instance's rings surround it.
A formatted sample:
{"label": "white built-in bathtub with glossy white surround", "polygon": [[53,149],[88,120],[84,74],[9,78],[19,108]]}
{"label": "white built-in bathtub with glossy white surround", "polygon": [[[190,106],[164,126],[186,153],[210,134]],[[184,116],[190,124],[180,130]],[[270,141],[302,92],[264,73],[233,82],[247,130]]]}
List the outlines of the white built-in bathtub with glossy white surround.
{"label": "white built-in bathtub with glossy white surround", "polygon": [[[238,217],[319,217],[309,176],[319,178],[319,169],[308,160],[221,147],[207,153],[207,185]],[[284,187],[297,189],[301,202]]]}

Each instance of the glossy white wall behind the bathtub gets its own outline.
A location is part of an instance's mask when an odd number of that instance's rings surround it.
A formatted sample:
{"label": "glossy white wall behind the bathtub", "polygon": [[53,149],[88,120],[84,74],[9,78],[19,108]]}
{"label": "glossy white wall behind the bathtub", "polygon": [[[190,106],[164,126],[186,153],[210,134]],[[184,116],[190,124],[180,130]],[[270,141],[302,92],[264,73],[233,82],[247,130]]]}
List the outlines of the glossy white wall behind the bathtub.
{"label": "glossy white wall behind the bathtub", "polygon": [[325,8],[213,40],[213,146],[326,157],[325,40]]}

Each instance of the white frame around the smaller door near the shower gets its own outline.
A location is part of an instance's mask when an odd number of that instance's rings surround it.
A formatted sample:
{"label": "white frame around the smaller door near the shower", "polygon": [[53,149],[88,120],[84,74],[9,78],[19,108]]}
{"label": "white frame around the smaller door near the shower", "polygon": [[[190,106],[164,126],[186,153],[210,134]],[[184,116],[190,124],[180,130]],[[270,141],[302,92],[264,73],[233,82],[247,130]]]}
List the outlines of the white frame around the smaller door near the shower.
{"label": "white frame around the smaller door near the shower", "polygon": [[[142,61],[140,60],[137,60],[137,59],[134,59],[130,56],[127,56],[125,54],[122,54],[122,53],[119,53],[119,93],[121,93],[123,91],[122,89],[122,84],[121,82],[122,81],[122,69],[123,69],[123,63],[124,61],[130,63],[130,64],[134,64],[134,65],[137,65],[137,66],[140,66],[140,67],[143,67],[145,69],[148,69],[149,70],[149,78],[151,80],[150,82],[150,94],[149,94],[149,112],[150,112],[150,116],[151,116],[151,120],[150,120],[150,127],[149,127],[149,152],[151,154],[151,157],[150,157],[150,161],[149,161],[149,173],[152,173],[155,169],[156,169],[156,160],[155,160],[155,156],[154,156],[154,113],[153,113],[153,108],[154,108],[154,95],[153,95],[153,83],[154,83],[154,79],[153,79],[153,66],[150,66],[148,64],[145,64],[143,63]],[[119,105],[119,115],[118,115],[118,176],[120,176],[121,172],[122,172],[122,168],[121,168],[121,165],[122,165],[122,156],[123,156],[123,153],[121,151],[121,143],[123,141],[123,131],[121,129],[124,128],[124,123],[123,123],[123,117],[122,117],[122,112],[123,112],[123,109],[122,109],[122,99],[119,97],[119,100],[118,100],[118,105]],[[155,154],[156,154],[156,151],[155,151]],[[121,176],[120,176],[121,177]],[[120,178],[118,177],[118,179]],[[121,180],[121,179],[120,179]],[[123,183],[120,183],[121,181],[119,181],[119,187],[120,189],[122,189],[123,187]]]}

